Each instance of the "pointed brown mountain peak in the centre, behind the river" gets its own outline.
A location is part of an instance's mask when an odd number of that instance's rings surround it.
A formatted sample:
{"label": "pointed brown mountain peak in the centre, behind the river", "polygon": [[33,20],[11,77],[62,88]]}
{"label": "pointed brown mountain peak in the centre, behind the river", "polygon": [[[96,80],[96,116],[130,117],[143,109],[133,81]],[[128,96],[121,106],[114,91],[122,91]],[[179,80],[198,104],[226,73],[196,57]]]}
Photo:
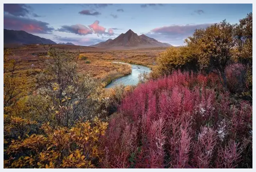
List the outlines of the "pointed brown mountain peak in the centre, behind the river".
{"label": "pointed brown mountain peak in the centre, behind the river", "polygon": [[104,48],[146,48],[146,47],[169,47],[172,46],[167,43],[162,43],[154,38],[150,38],[146,35],[138,36],[131,29],[125,34],[117,36],[115,39],[108,39],[107,41],[100,42],[92,47],[104,47]]}

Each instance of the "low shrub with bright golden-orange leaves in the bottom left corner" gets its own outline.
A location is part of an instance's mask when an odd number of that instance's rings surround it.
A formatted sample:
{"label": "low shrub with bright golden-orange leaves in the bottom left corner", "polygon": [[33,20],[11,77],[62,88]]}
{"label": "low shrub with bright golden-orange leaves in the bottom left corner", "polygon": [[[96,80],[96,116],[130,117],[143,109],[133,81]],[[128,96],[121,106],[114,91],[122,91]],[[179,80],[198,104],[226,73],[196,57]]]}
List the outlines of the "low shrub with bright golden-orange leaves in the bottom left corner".
{"label": "low shrub with bright golden-orange leaves in the bottom left corner", "polygon": [[[16,124],[18,123],[17,119]],[[4,150],[4,167],[95,168],[102,161],[103,152],[99,149],[99,139],[106,128],[107,123],[98,118],[92,123],[78,122],[71,128],[53,129],[49,124],[43,124],[40,134],[11,141]]]}

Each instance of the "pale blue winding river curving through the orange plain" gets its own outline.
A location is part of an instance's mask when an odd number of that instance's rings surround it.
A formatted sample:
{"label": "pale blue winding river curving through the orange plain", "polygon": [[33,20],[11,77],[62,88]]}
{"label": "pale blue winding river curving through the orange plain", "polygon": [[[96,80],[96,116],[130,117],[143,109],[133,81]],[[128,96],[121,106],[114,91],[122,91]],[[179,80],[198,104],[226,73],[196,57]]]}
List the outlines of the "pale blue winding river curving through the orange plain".
{"label": "pale blue winding river curving through the orange plain", "polygon": [[130,63],[124,63],[124,62],[113,62],[113,63],[122,63],[122,64],[129,64],[132,66],[132,73],[126,76],[123,76],[122,78],[118,78],[110,84],[108,84],[105,88],[111,88],[118,84],[124,84],[124,85],[136,85],[139,82],[139,74],[141,73],[150,73],[151,69],[148,67],[145,67],[143,65],[137,65],[137,64],[130,64]]}

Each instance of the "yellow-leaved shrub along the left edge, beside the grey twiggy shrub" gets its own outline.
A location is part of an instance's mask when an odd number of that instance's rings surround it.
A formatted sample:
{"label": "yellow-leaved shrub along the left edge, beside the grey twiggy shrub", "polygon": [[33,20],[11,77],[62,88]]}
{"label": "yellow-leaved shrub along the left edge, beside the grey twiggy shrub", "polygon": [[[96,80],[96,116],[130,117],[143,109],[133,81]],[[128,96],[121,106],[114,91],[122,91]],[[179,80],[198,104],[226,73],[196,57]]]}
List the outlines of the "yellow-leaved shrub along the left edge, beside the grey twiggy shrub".
{"label": "yellow-leaved shrub along the left edge, beside the grey twiggy shrub", "polygon": [[[9,52],[8,52],[9,53]],[[34,123],[30,122],[30,105],[28,105],[27,95],[32,92],[34,83],[30,77],[16,75],[14,59],[4,54],[4,140],[9,142],[11,139],[23,137],[25,134],[34,130]],[[12,69],[10,72],[9,69]],[[14,125],[15,124],[15,125]],[[33,128],[31,128],[33,126]],[[34,130],[35,131],[35,130]]]}

